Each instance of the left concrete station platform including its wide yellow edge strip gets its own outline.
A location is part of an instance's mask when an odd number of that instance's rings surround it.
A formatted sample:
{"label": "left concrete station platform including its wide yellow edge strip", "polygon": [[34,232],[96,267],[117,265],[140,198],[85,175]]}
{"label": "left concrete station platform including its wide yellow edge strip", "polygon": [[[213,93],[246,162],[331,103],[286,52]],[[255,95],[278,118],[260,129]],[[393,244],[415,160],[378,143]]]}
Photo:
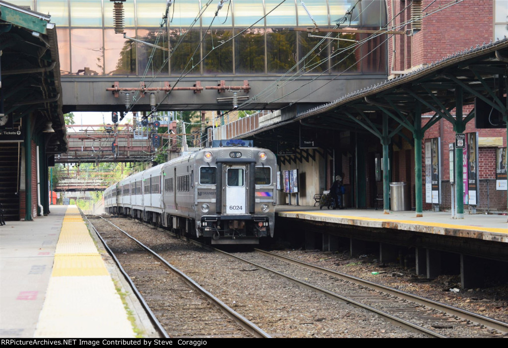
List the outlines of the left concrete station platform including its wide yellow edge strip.
{"label": "left concrete station platform including its wide yellow edge strip", "polygon": [[125,308],[136,305],[119,294],[128,288],[76,206],[8,222],[0,241],[0,337],[139,337]]}

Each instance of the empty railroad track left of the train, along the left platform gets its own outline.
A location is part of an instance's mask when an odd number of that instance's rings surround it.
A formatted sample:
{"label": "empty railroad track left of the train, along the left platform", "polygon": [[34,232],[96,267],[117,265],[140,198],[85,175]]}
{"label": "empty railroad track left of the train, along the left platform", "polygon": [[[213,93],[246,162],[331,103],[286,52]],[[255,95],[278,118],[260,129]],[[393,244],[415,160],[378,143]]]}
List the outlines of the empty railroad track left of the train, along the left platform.
{"label": "empty railroad track left of the train, along the left platform", "polygon": [[[130,268],[130,271],[126,273],[130,273],[131,276],[124,274],[135,289],[138,298],[146,305],[148,315],[162,336],[270,337],[129,233],[102,216],[89,217],[89,220],[93,219],[102,219],[114,228],[114,231],[111,229],[108,231],[101,227],[99,232],[95,226],[93,227],[99,236],[108,234],[108,236],[101,236],[106,246],[115,244],[114,247],[108,248],[108,252],[121,269]],[[97,221],[94,223],[90,222],[90,225],[100,225]],[[119,240],[122,237],[118,235],[119,233],[129,237],[131,243],[121,245]],[[145,263],[142,264],[143,262]],[[168,272],[168,269],[171,272]],[[157,279],[154,280],[154,277]],[[135,283],[139,288],[143,288],[143,296],[137,290]],[[166,284],[170,287],[169,289]],[[151,300],[148,300],[148,297]],[[220,311],[218,315],[217,309]],[[156,318],[153,312],[161,314],[161,318]],[[234,324],[228,325],[228,319]]]}

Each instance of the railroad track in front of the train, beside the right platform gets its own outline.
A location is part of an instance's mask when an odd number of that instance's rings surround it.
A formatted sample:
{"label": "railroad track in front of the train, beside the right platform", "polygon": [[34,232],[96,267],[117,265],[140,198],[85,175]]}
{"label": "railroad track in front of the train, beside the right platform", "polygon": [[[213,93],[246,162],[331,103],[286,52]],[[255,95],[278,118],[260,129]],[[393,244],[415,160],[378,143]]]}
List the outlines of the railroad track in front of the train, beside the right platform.
{"label": "railroad track in front of the train, beside the right platform", "polygon": [[[398,323],[409,330],[426,333],[433,337],[457,337],[456,333],[460,337],[502,337],[508,334],[508,324],[477,313],[266,250],[255,250],[256,254],[261,255],[262,258],[252,257],[253,253],[248,257],[245,257],[245,254],[242,254],[242,257],[235,254],[225,254],[274,272],[301,284],[301,286],[373,310],[394,324]],[[221,250],[217,251],[224,253]],[[282,263],[274,264],[270,261],[273,259]],[[268,267],[267,264],[270,266]],[[288,265],[294,267],[288,267]],[[306,271],[301,272],[295,267]],[[461,334],[461,332],[469,334]]]}

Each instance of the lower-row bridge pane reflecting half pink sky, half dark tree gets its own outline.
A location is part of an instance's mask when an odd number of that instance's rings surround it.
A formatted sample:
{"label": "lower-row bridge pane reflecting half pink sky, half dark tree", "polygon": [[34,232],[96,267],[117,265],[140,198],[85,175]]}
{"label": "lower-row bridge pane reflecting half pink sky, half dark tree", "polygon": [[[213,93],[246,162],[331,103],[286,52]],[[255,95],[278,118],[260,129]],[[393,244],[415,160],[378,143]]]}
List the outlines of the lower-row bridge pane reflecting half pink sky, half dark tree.
{"label": "lower-row bridge pane reflecting half pink sky, half dark tree", "polygon": [[[127,36],[134,36],[134,29],[126,29]],[[115,34],[114,29],[104,29],[106,75],[136,74],[136,43]]]}

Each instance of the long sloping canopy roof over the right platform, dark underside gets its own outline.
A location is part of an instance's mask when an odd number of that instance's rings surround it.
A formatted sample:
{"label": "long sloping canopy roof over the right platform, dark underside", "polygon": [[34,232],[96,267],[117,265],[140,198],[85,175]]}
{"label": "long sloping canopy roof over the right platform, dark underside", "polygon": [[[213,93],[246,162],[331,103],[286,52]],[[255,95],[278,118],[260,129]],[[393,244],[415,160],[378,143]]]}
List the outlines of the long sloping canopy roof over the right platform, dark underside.
{"label": "long sloping canopy roof over the right platform, dark underside", "polygon": [[[463,105],[473,104],[478,97],[489,98],[489,92],[501,93],[499,97],[502,97],[505,87],[500,77],[507,74],[507,67],[507,38],[471,46],[426,67],[346,94],[289,119],[260,125],[260,128],[243,134],[242,138],[268,139],[274,133],[294,138],[298,137],[300,124],[321,129],[365,132],[365,128],[353,118],[368,118],[374,128],[380,127],[382,108],[395,115],[390,118],[391,129],[396,129],[400,123],[410,126],[417,104],[422,114],[436,114],[444,109],[451,112],[456,106],[455,91],[459,86],[463,91]],[[439,112],[438,118],[442,115],[446,116],[446,112]]]}

